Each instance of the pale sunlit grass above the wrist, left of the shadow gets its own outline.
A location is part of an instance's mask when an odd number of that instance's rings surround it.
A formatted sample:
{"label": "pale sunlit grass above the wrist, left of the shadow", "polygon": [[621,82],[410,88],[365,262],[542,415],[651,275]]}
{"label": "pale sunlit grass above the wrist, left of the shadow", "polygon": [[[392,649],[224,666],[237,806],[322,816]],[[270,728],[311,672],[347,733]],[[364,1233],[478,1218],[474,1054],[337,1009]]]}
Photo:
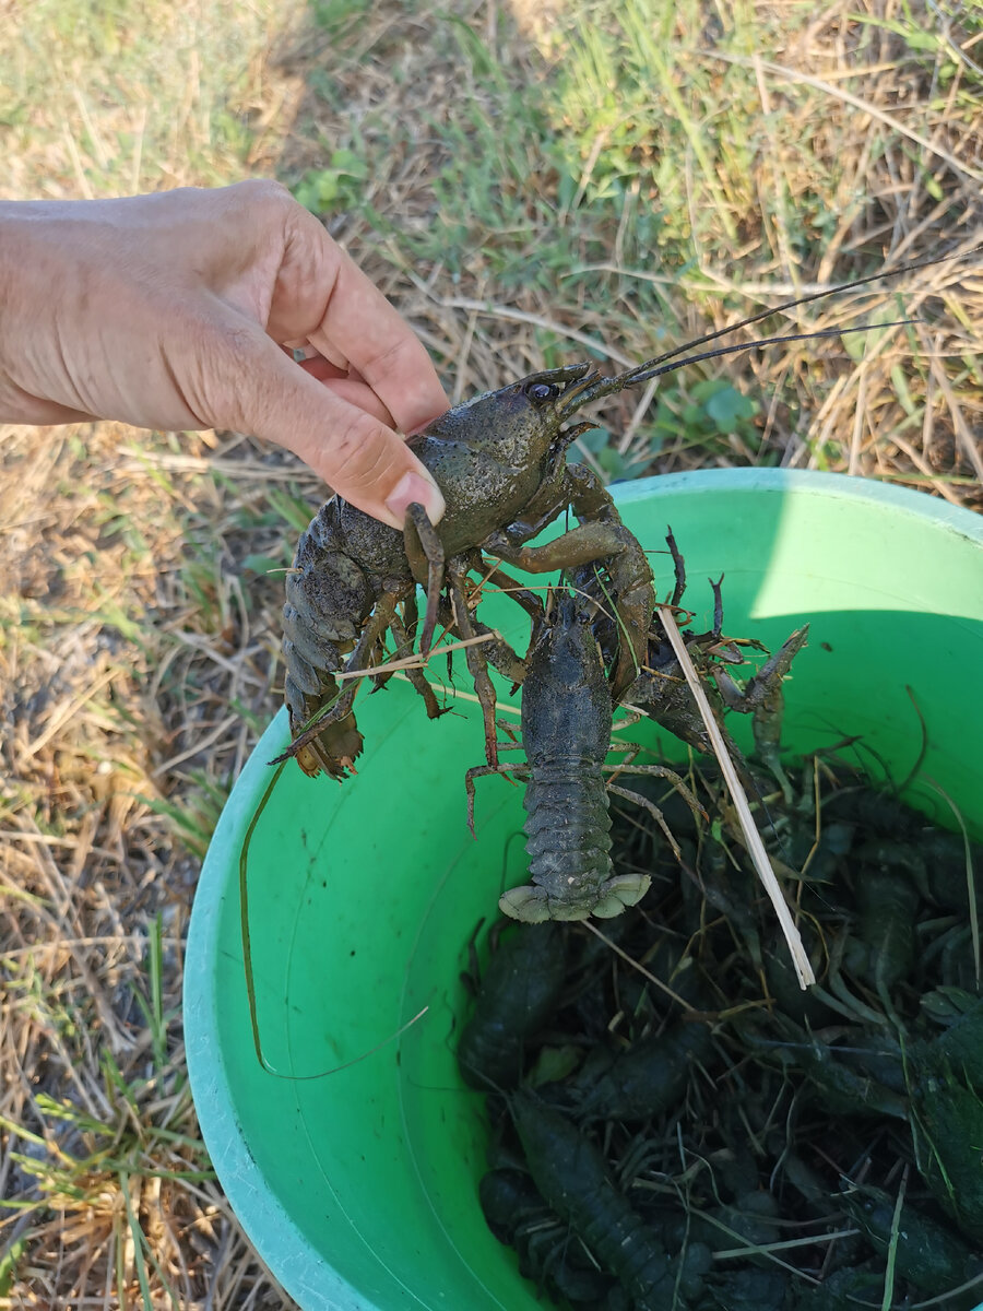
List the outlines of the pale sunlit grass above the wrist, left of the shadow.
{"label": "pale sunlit grass above the wrist, left of the shadow", "polygon": [[8,194],[106,197],[244,176],[288,16],[270,0],[33,0],[0,38]]}

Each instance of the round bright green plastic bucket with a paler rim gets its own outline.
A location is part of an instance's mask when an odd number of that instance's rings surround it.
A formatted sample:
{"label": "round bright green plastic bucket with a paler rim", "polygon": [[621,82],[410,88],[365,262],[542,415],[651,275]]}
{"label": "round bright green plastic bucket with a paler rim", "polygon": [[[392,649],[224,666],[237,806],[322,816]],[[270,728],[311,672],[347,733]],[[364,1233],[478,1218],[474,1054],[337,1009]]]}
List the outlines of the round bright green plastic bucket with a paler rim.
{"label": "round bright green plastic bucket with a paler rim", "polygon": [[[978,518],[882,484],[782,471],[672,475],[615,494],[645,547],[659,551],[671,523],[697,629],[712,611],[706,578],[722,570],[727,632],[775,648],[811,623],[786,684],[792,750],[862,734],[860,759],[902,780],[923,749],[916,703],[928,745],[910,796],[953,826],[946,793],[983,836]],[[666,595],[668,557],[651,558]],[[512,603],[490,598],[482,617],[522,641],[526,617]],[[456,680],[471,691],[463,671]],[[461,696],[431,722],[409,684],[393,682],[359,697],[358,717],[358,777],[338,785],[291,766],[249,853],[262,1042],[292,1078],[256,1058],[239,897],[265,762],[287,741],[283,714],[212,839],[185,971],[204,1141],[245,1230],[304,1311],[532,1311],[535,1290],[478,1209],[481,1097],[453,1062],[465,944],[481,916],[495,915],[503,868],[510,884],[524,878],[523,844],[507,840],[522,827],[520,791],[478,780],[473,842],[464,794],[464,771],[482,760],[473,703]],[[304,1078],[360,1057],[423,1007],[364,1061]]]}

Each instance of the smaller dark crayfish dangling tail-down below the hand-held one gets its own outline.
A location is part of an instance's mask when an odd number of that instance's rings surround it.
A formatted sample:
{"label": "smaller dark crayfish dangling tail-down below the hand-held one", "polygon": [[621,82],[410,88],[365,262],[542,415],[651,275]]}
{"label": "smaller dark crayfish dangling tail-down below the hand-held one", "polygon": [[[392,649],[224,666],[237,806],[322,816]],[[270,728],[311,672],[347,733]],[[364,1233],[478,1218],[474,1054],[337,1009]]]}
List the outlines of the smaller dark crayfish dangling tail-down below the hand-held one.
{"label": "smaller dark crayfish dangling tail-down below the hand-held one", "polygon": [[[667,538],[674,557],[676,586],[672,607],[678,607],[685,586],[683,557],[670,530]],[[644,806],[662,829],[672,851],[679,848],[662,813],[647,797],[628,791],[606,773],[657,776],[670,780],[695,814],[704,815],[699,802],[672,770],[661,764],[634,764],[641,747],[611,741],[613,699],[604,669],[604,646],[609,644],[612,616],[594,597],[596,577],[577,573],[583,586],[550,590],[545,607],[533,619],[533,635],[526,656],[522,680],[520,742],[499,743],[499,751],[526,751],[524,764],[484,764],[468,770],[468,825],[474,832],[474,780],[489,773],[510,773],[526,781],[527,855],[531,884],[514,888],[499,901],[501,910],[514,919],[539,923],[544,919],[609,919],[626,906],[634,906],[647,891],[644,873],[615,874],[611,867],[609,796]],[[714,590],[714,624],[701,635],[688,633],[688,646],[703,666],[704,692],[710,694],[717,717],[723,705],[754,713],[759,754],[784,780],[777,762],[781,728],[781,682],[793,656],[805,644],[807,628],[793,633],[776,656],[741,688],[726,673],[726,663],[739,662],[733,640],[723,638],[720,583]],[[535,602],[535,598],[527,598]],[[600,633],[600,640],[598,636]],[[710,675],[716,687],[706,682]],[[685,686],[679,663],[655,616],[646,633],[642,670],[625,694],[633,713],[645,713],[699,751],[712,751],[703,724]],[[733,758],[743,766],[737,746],[726,738]],[[764,750],[763,750],[764,749]],[[607,764],[611,751],[628,751],[628,759]],[[742,772],[747,776],[746,768]],[[750,780],[754,789],[754,781]],[[705,818],[705,815],[704,815]]]}

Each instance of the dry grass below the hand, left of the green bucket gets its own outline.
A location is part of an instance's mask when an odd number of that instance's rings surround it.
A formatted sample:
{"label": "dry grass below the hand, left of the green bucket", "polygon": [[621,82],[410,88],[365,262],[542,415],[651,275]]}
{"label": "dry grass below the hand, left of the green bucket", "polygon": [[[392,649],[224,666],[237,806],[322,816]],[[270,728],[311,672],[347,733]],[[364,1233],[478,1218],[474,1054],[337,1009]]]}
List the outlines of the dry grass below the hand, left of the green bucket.
{"label": "dry grass below the hand, left of the green bucket", "polygon": [[286,1307],[211,1183],[180,992],[198,863],[271,701],[278,583],[240,561],[286,555],[266,492],[303,479],[233,438],[220,492],[204,440],[128,439],[3,447],[0,1297]]}

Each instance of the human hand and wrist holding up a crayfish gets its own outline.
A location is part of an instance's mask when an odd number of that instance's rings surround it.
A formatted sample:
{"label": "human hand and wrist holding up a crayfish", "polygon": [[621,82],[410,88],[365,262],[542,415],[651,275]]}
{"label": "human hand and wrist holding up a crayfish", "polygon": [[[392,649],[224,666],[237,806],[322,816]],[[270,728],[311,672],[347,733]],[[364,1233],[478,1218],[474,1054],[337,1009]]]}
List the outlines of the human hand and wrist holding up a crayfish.
{"label": "human hand and wrist holding up a crayfish", "polygon": [[392,430],[447,409],[434,366],[275,182],[0,203],[0,421],[233,429],[393,527],[443,515]]}

